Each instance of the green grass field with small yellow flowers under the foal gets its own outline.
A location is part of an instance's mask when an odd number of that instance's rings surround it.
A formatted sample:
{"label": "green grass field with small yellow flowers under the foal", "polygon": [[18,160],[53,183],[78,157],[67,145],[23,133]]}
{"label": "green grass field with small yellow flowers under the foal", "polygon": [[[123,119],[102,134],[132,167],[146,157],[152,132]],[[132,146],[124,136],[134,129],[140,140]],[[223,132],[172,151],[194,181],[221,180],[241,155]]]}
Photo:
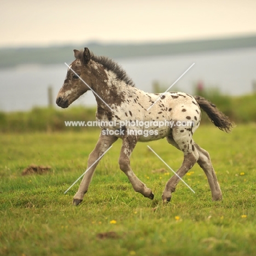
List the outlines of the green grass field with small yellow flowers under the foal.
{"label": "green grass field with small yellow flowers under the foal", "polygon": [[[131,166],[152,188],[153,201],[135,193],[119,170],[118,141],[96,169],[88,194],[73,207],[99,130],[0,134],[0,255],[256,255],[256,125],[231,134],[201,126],[194,139],[208,150],[223,201],[212,202],[198,165],[184,177],[172,201],[161,193],[183,155],[165,139],[138,143]],[[67,128],[68,129],[68,128]],[[30,164],[50,165],[43,175],[21,176]]]}

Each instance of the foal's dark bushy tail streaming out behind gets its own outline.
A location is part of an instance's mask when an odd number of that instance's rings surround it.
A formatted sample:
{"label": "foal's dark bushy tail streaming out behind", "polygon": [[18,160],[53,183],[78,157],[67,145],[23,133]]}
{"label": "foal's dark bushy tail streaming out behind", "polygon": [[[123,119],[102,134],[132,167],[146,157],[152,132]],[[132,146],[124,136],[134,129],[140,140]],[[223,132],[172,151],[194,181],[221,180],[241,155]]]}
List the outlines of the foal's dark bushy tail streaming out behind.
{"label": "foal's dark bushy tail streaming out behind", "polygon": [[220,112],[220,110],[210,101],[206,100],[201,96],[194,96],[196,102],[199,104],[212,123],[217,126],[220,130],[230,132],[232,130],[232,123],[229,118]]}

